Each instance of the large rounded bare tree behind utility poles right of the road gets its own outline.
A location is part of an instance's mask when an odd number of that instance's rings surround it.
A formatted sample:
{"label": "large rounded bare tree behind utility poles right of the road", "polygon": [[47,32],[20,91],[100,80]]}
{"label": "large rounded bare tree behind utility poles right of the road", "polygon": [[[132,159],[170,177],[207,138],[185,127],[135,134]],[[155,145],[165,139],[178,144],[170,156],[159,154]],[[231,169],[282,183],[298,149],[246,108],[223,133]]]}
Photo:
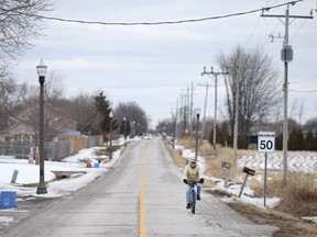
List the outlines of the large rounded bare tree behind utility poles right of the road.
{"label": "large rounded bare tree behind utility poles right of the road", "polygon": [[239,80],[239,134],[247,135],[259,120],[263,122],[272,115],[272,109],[280,100],[276,90],[276,69],[273,68],[271,58],[259,47],[247,50],[237,46],[231,54],[220,54],[217,59],[220,67],[229,72],[225,79],[226,105],[232,131]]}

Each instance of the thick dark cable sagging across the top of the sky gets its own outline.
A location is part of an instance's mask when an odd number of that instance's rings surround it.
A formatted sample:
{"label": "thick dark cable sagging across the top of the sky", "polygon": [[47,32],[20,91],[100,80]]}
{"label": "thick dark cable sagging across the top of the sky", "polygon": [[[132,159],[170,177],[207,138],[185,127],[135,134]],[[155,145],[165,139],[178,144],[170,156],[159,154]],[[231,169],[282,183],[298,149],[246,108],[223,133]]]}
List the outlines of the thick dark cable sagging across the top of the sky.
{"label": "thick dark cable sagging across the top of the sky", "polygon": [[244,12],[237,12],[237,13],[230,13],[225,15],[217,15],[217,16],[209,16],[209,18],[200,18],[200,19],[188,19],[188,20],[177,20],[177,21],[158,21],[158,22],[102,22],[102,21],[84,21],[84,20],[74,20],[74,19],[63,19],[63,18],[54,18],[54,16],[44,16],[44,15],[37,15],[37,14],[30,14],[24,12],[19,12],[21,14],[28,14],[34,18],[40,18],[43,20],[52,20],[52,21],[61,21],[61,22],[68,22],[68,23],[80,23],[80,24],[100,24],[100,25],[123,25],[123,26],[133,26],[133,25],[164,25],[164,24],[183,24],[183,23],[195,23],[195,22],[203,22],[203,21],[211,21],[211,20],[219,20],[219,19],[226,19],[226,18],[232,18],[232,16],[240,16],[245,14],[251,14],[255,12],[263,12],[269,11],[271,9],[281,8],[287,4],[294,4],[296,2],[304,1],[304,0],[296,0],[291,2],[285,2],[272,7],[265,7],[261,9],[254,9],[250,11]]}

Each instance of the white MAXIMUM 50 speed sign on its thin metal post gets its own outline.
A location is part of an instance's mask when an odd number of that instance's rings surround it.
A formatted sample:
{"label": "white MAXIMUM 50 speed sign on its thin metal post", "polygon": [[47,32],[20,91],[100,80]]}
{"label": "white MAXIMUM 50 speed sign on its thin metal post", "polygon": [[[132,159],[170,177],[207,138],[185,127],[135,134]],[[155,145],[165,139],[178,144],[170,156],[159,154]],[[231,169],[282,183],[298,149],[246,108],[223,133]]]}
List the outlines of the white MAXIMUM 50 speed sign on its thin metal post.
{"label": "white MAXIMUM 50 speed sign on its thin metal post", "polygon": [[259,132],[258,134],[258,151],[265,153],[264,160],[264,206],[266,206],[266,178],[267,178],[267,153],[275,150],[275,132]]}

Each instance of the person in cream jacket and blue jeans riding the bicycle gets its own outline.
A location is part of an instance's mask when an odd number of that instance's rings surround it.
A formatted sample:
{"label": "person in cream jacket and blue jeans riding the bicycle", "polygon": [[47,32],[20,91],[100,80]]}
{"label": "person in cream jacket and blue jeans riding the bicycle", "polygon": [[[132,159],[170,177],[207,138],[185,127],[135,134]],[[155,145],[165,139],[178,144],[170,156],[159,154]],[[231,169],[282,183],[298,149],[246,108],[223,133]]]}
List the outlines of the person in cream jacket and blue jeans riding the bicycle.
{"label": "person in cream jacket and blue jeans riding the bicycle", "polygon": [[200,192],[201,192],[201,183],[204,183],[204,172],[201,167],[199,167],[197,165],[197,160],[196,159],[192,159],[187,166],[184,168],[184,172],[183,172],[183,182],[186,185],[186,208],[190,208],[192,204],[190,204],[190,185],[188,184],[188,182],[196,182],[196,187],[197,187],[197,198],[196,200],[200,200]]}

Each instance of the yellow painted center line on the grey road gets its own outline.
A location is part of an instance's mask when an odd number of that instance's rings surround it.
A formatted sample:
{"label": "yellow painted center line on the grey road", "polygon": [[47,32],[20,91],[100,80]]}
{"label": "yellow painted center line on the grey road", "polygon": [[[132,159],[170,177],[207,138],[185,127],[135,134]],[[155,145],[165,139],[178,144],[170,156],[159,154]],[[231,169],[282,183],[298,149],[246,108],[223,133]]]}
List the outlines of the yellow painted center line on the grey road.
{"label": "yellow painted center line on the grey road", "polygon": [[145,157],[144,157],[141,191],[140,191],[140,223],[139,223],[139,236],[140,237],[146,237],[145,206],[144,206],[144,185],[145,185],[145,178],[146,178],[146,166],[147,166],[147,147],[145,148]]}

